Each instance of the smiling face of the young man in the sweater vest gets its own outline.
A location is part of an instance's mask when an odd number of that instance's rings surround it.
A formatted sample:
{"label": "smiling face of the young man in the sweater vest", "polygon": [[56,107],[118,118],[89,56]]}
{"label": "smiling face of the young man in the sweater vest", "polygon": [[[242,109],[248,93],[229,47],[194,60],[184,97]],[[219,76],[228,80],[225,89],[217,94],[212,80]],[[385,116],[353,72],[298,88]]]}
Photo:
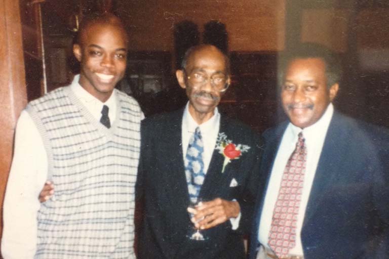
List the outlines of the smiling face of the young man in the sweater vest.
{"label": "smiling face of the young man in the sweater vest", "polygon": [[126,70],[124,29],[118,24],[93,23],[82,31],[73,53],[81,62],[81,86],[100,101],[108,100]]}

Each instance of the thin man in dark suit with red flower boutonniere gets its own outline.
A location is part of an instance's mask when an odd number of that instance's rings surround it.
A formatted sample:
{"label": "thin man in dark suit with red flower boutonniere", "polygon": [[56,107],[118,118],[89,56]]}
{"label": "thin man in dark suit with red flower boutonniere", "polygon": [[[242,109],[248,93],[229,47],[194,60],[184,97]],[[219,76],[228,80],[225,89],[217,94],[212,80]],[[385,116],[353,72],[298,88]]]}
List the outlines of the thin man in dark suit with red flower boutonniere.
{"label": "thin man in dark suit with red flower boutonniere", "polygon": [[[138,257],[245,258],[242,234],[257,194],[260,139],[217,110],[230,72],[216,47],[188,50],[176,76],[186,107],[141,125]],[[202,202],[191,209],[190,201]],[[206,240],[192,239],[193,226]]]}

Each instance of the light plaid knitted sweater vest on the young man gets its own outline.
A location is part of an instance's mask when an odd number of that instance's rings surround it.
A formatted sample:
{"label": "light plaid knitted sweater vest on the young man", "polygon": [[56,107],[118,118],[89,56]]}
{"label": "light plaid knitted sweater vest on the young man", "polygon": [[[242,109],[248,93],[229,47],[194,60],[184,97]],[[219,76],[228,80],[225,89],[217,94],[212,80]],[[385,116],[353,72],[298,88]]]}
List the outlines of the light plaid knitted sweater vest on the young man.
{"label": "light plaid knitted sweater vest on the young man", "polygon": [[38,211],[35,258],[135,258],[134,189],[139,160],[138,103],[120,91],[111,128],[69,87],[32,101],[55,194]]}

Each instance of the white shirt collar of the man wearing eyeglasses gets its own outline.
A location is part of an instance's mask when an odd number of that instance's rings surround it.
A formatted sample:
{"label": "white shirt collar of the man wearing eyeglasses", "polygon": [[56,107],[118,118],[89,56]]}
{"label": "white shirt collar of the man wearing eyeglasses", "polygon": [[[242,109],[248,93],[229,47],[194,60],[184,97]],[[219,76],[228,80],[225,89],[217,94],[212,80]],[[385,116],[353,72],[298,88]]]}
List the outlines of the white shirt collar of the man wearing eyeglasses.
{"label": "white shirt collar of the man wearing eyeglasses", "polygon": [[199,125],[195,121],[195,119],[193,119],[192,115],[190,115],[189,102],[188,102],[185,106],[184,114],[182,116],[182,128],[187,128],[188,132],[195,132],[196,127],[199,126],[201,133],[207,134],[209,132],[212,132],[217,127],[219,121],[220,121],[220,113],[216,107],[213,116],[206,122],[203,122],[202,124]]}

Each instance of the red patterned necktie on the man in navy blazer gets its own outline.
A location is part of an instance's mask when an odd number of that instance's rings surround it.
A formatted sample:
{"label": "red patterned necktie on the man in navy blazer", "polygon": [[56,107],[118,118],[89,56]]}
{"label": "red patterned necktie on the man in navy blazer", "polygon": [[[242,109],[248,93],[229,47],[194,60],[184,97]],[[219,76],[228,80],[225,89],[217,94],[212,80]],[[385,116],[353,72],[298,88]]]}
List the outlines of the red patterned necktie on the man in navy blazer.
{"label": "red patterned necktie on the man in navy blazer", "polygon": [[269,247],[279,258],[288,256],[296,245],[296,223],[304,184],[306,147],[302,132],[282,175],[269,232]]}

